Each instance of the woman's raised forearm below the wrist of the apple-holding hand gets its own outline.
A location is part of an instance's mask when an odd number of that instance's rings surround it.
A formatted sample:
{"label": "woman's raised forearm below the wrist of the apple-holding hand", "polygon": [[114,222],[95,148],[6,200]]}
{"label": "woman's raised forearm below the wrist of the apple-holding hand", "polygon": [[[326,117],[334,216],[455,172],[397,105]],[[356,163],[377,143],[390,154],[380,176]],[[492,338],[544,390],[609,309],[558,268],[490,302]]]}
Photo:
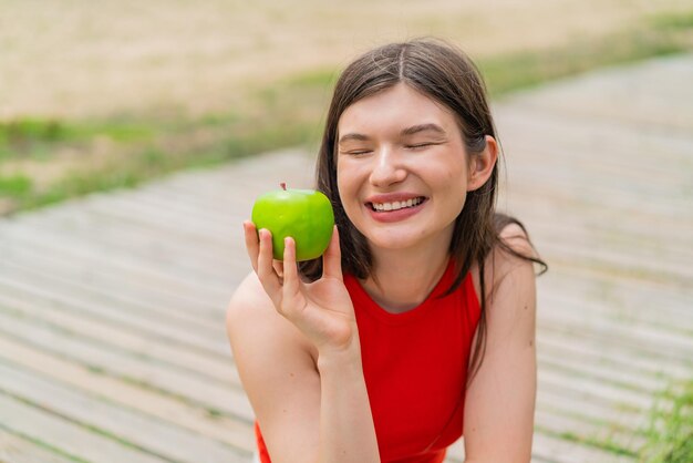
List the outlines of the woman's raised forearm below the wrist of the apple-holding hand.
{"label": "woman's raised forearm below the wrist of the apple-holding hand", "polygon": [[377,463],[380,455],[360,352],[321,354],[320,462]]}

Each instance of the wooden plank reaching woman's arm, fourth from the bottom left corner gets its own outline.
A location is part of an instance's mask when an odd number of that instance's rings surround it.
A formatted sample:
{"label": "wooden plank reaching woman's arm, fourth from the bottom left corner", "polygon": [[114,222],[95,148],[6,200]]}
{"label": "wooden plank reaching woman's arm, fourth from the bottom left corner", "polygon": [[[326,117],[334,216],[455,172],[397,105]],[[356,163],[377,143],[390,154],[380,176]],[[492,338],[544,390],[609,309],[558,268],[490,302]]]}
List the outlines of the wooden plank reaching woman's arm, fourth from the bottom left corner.
{"label": "wooden plank reaching woman's arm, fourth from the bottom left corner", "polygon": [[241,451],[252,452],[254,433],[250,423],[215,414],[189,401],[180,401],[152,389],[110,377],[100,369],[89,368],[52,351],[44,351],[21,340],[0,337],[0,359],[37,371],[56,382],[71,384],[113,403],[139,410],[162,421],[174,423],[200,435],[207,435]]}

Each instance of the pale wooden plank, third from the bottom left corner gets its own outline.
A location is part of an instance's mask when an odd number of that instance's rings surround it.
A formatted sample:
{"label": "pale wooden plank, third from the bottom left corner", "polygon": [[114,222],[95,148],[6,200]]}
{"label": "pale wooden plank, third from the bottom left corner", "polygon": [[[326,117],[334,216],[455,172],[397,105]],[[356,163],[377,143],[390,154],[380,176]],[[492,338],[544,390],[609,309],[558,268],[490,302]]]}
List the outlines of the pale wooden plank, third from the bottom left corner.
{"label": "pale wooden plank, third from the bottom left corner", "polygon": [[[179,426],[118,407],[95,394],[0,361],[0,391],[49,413],[125,441],[164,460],[196,463],[244,462],[251,455]],[[172,445],[175,443],[175,445]]]}

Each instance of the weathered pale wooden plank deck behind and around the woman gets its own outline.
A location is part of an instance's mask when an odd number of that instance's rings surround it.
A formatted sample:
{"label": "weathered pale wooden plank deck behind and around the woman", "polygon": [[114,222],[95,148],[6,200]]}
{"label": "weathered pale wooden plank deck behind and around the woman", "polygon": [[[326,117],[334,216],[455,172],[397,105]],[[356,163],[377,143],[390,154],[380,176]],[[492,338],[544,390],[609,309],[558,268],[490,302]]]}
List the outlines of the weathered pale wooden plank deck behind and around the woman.
{"label": "weathered pale wooden plank deck behind and around the woman", "polygon": [[[501,209],[539,281],[535,462],[635,462],[649,410],[693,378],[693,55],[495,107]],[[0,461],[249,462],[224,330],[241,219],[286,151],[0,220]],[[462,462],[462,445],[449,454]]]}

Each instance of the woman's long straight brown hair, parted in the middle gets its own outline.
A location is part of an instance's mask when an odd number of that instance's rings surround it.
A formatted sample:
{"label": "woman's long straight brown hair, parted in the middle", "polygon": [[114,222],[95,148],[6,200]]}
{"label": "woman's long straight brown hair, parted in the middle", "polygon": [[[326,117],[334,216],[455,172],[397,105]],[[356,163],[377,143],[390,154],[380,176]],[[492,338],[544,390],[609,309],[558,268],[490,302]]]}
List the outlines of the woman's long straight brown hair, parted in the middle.
{"label": "woman's long straight brown hair, parted in the middle", "polygon": [[[496,137],[494,121],[486,96],[486,86],[472,60],[455,47],[434,39],[417,39],[374,49],[353,61],[341,74],[334,88],[332,102],[317,164],[317,188],[332,202],[334,219],[340,232],[342,268],[356,278],[366,278],[372,270],[372,256],[365,237],[346,217],[337,186],[337,137],[342,113],[353,103],[397,83],[410,85],[422,94],[448,107],[455,115],[470,156],[486,147],[486,135]],[[463,210],[455,219],[449,255],[455,258],[455,279],[445,295],[459,287],[473,263],[479,267],[482,317],[475,354],[470,361],[474,372],[480,366],[486,341],[486,282],[484,263],[490,250],[504,250],[542,266],[534,256],[513,250],[499,238],[508,224],[525,227],[515,218],[495,213],[498,167],[478,189],[469,192]],[[309,280],[320,278],[322,259],[300,265]],[[470,378],[474,374],[470,375]]]}

